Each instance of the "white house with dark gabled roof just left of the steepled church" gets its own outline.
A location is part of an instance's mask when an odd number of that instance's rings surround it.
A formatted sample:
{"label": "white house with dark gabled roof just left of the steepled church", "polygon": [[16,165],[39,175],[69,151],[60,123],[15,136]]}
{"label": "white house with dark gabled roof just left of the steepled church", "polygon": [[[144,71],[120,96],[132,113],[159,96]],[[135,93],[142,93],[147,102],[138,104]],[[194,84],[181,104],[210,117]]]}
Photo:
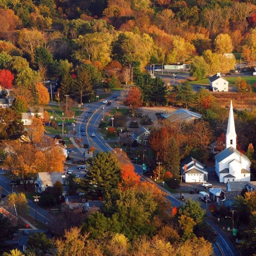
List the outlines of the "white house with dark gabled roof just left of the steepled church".
{"label": "white house with dark gabled roof just left of the steepled church", "polygon": [[190,156],[181,162],[181,174],[185,182],[206,182],[208,171],[201,162]]}

